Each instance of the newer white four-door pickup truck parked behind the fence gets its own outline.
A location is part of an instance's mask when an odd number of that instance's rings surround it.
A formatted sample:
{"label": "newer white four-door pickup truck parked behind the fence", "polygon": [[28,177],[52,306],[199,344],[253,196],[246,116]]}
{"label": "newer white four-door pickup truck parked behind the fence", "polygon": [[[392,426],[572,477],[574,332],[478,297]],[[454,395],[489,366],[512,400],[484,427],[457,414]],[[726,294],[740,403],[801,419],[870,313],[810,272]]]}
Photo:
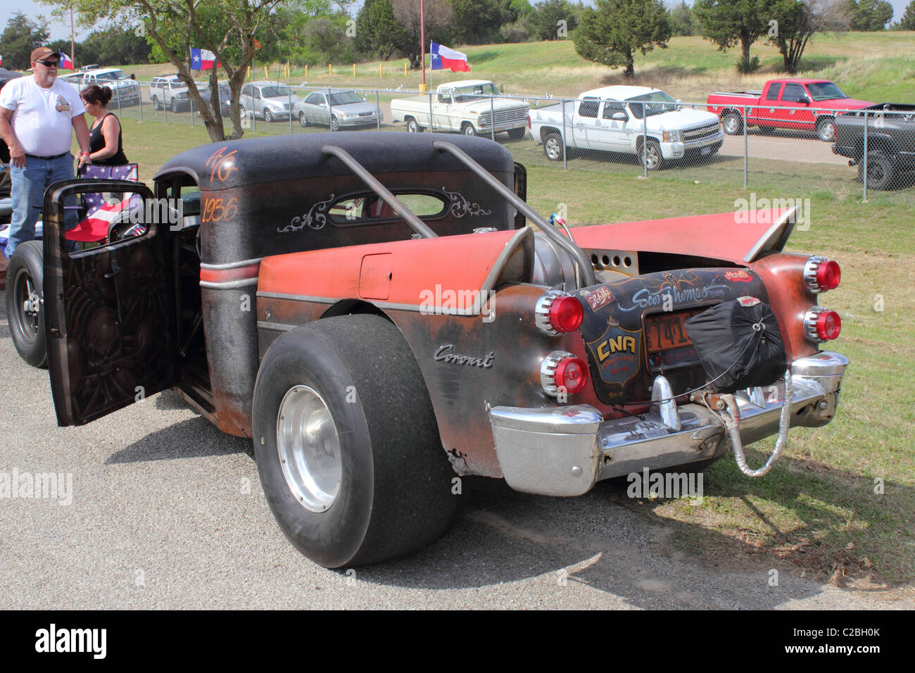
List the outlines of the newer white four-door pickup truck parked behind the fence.
{"label": "newer white four-door pickup truck parked behind the fence", "polygon": [[530,114],[533,139],[552,161],[562,160],[565,144],[634,154],[646,168],[657,170],[667,159],[714,155],[725,137],[716,114],[682,109],[667,93],[642,86],[584,92],[575,103],[565,104],[565,124],[562,108],[555,105]]}

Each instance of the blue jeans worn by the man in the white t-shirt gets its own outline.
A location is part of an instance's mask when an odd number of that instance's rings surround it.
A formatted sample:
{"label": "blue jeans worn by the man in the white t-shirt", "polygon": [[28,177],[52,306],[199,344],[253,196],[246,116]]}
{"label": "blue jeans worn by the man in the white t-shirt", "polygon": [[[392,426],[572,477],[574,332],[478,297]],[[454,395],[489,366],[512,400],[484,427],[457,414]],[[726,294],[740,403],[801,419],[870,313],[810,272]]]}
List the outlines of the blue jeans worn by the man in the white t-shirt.
{"label": "blue jeans worn by the man in the white t-shirt", "polygon": [[73,155],[68,152],[56,159],[26,157],[25,168],[9,165],[12,181],[13,219],[9,223],[6,256],[12,257],[16,245],[35,239],[35,223],[41,216],[45,189],[53,182],[73,179]]}

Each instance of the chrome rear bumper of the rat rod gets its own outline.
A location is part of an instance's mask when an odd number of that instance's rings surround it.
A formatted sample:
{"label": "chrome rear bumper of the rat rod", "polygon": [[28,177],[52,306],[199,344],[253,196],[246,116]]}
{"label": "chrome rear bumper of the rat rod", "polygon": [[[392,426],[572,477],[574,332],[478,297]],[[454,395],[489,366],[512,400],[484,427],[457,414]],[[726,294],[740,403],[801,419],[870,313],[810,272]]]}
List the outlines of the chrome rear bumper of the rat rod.
{"label": "chrome rear bumper of the rat rod", "polygon": [[[844,355],[829,351],[791,364],[791,426],[833,419],[847,366]],[[784,390],[781,380],[736,394],[744,444],[778,432]],[[721,419],[705,405],[652,404],[643,417],[604,420],[589,405],[490,410],[505,481],[525,493],[581,495],[603,479],[705,461],[731,448]]]}

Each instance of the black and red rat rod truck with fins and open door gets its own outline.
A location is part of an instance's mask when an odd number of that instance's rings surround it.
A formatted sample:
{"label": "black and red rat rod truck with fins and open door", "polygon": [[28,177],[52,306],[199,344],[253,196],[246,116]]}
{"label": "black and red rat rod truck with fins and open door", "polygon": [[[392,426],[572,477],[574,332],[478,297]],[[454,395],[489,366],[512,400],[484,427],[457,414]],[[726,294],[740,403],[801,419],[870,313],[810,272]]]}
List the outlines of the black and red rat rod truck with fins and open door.
{"label": "black and red rat rod truck with fins and open door", "polygon": [[[789,424],[834,417],[848,361],[819,350],[839,324],[816,299],[839,269],[781,252],[791,211],[570,233],[525,176],[487,139],[363,132],[195,147],[153,190],[52,185],[59,425],[177,387],[253,440],[285,535],[340,567],[442,536],[461,475],[570,496],[732,449],[756,474]],[[186,207],[70,253],[65,203],[99,190]],[[749,470],[742,443],[776,433]]]}

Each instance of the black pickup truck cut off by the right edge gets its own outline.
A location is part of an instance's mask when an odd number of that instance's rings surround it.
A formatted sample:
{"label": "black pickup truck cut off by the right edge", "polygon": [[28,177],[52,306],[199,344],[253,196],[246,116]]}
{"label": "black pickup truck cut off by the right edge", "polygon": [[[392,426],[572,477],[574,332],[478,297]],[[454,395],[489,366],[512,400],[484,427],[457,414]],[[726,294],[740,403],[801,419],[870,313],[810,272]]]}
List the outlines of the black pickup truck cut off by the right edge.
{"label": "black pickup truck cut off by the right edge", "polygon": [[911,184],[903,173],[915,170],[915,105],[880,103],[835,118],[834,154],[849,157],[865,171],[865,118],[867,118],[867,186],[890,190]]}

